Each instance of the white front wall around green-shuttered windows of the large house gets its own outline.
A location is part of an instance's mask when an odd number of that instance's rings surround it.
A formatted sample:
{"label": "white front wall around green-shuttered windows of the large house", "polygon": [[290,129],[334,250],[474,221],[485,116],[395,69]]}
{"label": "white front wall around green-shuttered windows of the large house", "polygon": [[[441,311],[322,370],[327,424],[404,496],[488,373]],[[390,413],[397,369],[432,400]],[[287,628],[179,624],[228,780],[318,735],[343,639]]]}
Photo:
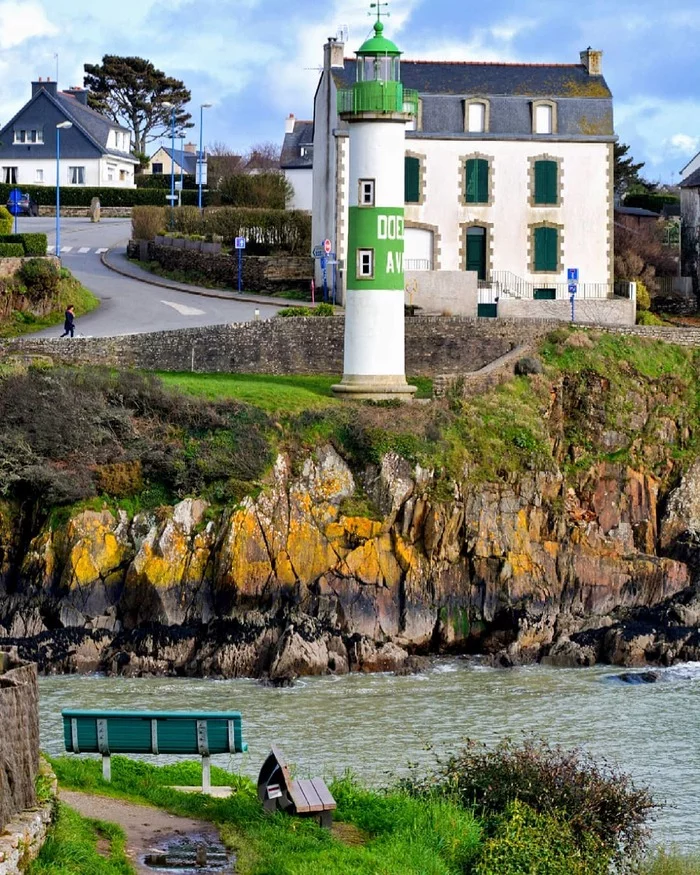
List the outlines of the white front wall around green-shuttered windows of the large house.
{"label": "white front wall around green-shuttered windows of the large house", "polygon": [[[566,268],[578,267],[581,282],[604,283],[609,275],[609,144],[494,140],[406,140],[406,149],[425,156],[423,205],[407,204],[406,221],[437,225],[441,270],[462,270],[460,223],[493,223],[487,245],[491,268],[512,271],[535,283],[565,282]],[[479,153],[493,159],[492,206],[465,205],[463,157]],[[530,157],[562,159],[559,207],[531,207],[528,190]],[[528,226],[537,222],[563,225],[559,274],[531,274]]]}

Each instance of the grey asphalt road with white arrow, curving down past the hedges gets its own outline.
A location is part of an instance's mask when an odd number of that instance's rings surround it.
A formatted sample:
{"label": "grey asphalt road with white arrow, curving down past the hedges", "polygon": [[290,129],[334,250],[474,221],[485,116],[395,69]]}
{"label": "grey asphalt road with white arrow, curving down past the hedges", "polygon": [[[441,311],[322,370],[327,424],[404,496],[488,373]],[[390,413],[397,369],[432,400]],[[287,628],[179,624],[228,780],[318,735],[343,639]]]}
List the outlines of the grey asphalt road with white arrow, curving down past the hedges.
{"label": "grey asphalt road with white arrow, curving down past the hedges", "polygon": [[[20,217],[18,231],[46,234],[55,247],[55,219]],[[187,294],[128,279],[106,268],[102,252],[124,247],[131,230],[130,219],[61,219],[61,261],[80,282],[102,302],[93,313],[76,321],[78,334],[110,337],[173,328],[247,322],[254,311],[261,319],[275,315],[278,307],[263,303],[226,301]],[[55,337],[62,327],[38,332],[39,337]]]}

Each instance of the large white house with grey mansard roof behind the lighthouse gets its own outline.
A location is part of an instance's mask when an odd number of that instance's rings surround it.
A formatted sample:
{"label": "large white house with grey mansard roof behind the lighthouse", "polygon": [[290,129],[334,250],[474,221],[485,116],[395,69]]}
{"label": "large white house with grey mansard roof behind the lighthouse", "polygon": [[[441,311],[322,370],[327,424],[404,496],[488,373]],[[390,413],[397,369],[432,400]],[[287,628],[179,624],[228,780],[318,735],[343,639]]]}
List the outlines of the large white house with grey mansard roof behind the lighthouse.
{"label": "large white house with grey mansard roof behind the lighthouse", "polygon": [[[349,156],[336,95],[356,65],[330,39],[314,104],[313,241],[330,238],[341,263]],[[419,94],[405,134],[407,281],[420,289],[438,278],[453,290],[452,312],[474,315],[476,302],[459,301],[467,272],[480,304],[500,300],[499,315],[506,303],[535,315],[541,306],[523,307],[538,300],[565,315],[569,268],[579,300],[612,298],[616,137],[602,52],[587,49],[578,64],[402,60],[401,81]]]}

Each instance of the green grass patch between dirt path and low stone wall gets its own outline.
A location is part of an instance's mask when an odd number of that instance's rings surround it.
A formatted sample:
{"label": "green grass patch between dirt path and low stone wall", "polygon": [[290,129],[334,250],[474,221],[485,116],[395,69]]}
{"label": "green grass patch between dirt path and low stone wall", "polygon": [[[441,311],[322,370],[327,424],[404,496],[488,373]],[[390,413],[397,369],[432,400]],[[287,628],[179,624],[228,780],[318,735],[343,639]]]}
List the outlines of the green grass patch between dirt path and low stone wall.
{"label": "green grass patch between dirt path and low stone wall", "polygon": [[[103,850],[108,845],[108,856],[98,852],[99,840]],[[116,824],[88,820],[59,803],[53,830],[27,875],[132,875],[124,848],[124,832]]]}

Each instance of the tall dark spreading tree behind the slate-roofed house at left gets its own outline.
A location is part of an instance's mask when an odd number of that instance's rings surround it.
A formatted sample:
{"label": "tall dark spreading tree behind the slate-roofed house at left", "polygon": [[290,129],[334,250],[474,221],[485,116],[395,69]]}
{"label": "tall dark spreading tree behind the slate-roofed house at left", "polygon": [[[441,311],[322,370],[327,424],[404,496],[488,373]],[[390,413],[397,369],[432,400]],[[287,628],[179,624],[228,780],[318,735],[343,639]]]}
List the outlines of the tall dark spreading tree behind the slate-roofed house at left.
{"label": "tall dark spreading tree behind the slate-roofed house at left", "polygon": [[105,55],[101,64],[85,64],[84,69],[89,105],[131,130],[135,152],[145,153],[148,143],[170,130],[172,107],[178,130],[192,127],[185,109],[192,95],[184,82],[166,76],[150,61]]}

